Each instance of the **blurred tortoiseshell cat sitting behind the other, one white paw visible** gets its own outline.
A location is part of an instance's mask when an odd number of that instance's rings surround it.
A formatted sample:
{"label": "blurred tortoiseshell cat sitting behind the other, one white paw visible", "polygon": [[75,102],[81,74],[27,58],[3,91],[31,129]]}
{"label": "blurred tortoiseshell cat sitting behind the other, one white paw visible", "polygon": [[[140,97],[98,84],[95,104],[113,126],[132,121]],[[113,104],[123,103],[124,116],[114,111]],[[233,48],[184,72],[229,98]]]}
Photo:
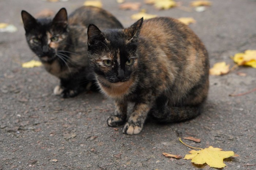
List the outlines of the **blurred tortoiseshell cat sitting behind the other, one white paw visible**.
{"label": "blurred tortoiseshell cat sitting behind the other, one white paw visible", "polygon": [[[74,97],[94,82],[87,57],[87,27],[123,28],[109,12],[97,7],[80,7],[69,17],[61,8],[53,19],[35,19],[21,12],[30,49],[39,57],[45,69],[60,79],[54,94]],[[95,85],[94,85],[95,86]]]}

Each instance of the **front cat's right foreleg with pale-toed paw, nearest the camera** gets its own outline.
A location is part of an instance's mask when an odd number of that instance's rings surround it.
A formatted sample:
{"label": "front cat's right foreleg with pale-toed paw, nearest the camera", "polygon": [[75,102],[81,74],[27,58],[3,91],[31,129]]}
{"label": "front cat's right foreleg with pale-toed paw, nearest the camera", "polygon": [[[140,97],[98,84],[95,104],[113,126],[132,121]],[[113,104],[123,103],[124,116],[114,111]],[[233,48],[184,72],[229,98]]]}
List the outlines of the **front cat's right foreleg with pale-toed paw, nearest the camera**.
{"label": "front cat's right foreleg with pale-toed paw, nearest the camera", "polygon": [[123,133],[128,135],[140,133],[149,110],[150,106],[148,104],[135,104],[132,114],[124,126]]}

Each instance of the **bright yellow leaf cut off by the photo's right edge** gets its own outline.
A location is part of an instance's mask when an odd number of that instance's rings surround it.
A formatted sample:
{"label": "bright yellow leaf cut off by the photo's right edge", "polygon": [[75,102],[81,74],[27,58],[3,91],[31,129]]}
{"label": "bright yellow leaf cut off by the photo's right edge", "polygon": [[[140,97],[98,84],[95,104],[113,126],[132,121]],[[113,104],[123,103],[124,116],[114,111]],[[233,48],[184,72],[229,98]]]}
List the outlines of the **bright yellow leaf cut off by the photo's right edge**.
{"label": "bright yellow leaf cut off by the photo's right edge", "polygon": [[237,53],[234,55],[233,60],[239,66],[246,65],[256,68],[256,50],[246,50],[244,53]]}

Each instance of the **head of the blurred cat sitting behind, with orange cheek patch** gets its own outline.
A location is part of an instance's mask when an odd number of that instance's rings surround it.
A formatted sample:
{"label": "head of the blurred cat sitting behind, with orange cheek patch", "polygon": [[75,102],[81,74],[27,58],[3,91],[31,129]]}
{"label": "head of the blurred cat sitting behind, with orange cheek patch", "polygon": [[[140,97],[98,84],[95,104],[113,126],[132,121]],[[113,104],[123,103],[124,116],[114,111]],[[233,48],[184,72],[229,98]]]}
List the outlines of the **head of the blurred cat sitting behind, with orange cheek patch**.
{"label": "head of the blurred cat sitting behind, with orange cheek patch", "polygon": [[[42,62],[51,62],[57,58],[57,51],[67,46],[68,17],[65,8],[53,19],[35,19],[26,11],[21,12],[26,39],[30,49]],[[56,55],[57,54],[57,55]]]}

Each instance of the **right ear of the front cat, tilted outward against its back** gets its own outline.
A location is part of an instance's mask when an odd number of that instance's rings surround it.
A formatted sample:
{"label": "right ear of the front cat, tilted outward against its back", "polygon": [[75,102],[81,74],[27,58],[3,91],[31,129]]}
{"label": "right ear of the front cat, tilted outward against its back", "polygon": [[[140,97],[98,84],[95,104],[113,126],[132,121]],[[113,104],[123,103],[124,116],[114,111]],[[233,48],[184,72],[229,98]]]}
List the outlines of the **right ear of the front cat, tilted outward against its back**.
{"label": "right ear of the front cat, tilted outward against its back", "polygon": [[143,23],[143,17],[139,19],[136,23],[132,24],[131,27],[125,28],[124,32],[127,36],[128,42],[133,41],[133,40],[138,40],[138,36],[140,33],[140,28]]}

